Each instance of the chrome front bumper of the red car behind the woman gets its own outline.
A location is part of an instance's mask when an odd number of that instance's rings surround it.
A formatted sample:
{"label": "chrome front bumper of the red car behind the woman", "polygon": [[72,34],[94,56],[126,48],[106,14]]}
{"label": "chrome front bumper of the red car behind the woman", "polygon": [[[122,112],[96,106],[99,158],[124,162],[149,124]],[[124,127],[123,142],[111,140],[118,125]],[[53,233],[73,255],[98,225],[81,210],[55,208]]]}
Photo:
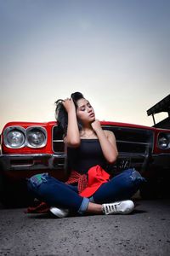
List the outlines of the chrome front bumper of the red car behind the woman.
{"label": "chrome front bumper of the red car behind the woman", "polygon": [[[140,172],[159,167],[170,170],[170,154],[119,154],[111,168],[134,167]],[[65,154],[0,154],[0,171],[65,169]]]}

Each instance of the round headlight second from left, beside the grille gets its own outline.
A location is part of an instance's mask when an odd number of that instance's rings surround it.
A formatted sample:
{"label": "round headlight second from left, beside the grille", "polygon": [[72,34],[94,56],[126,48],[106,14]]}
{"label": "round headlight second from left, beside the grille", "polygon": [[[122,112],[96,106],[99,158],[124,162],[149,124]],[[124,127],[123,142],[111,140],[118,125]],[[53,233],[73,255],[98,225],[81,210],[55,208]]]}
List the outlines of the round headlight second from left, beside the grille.
{"label": "round headlight second from left, beside the grille", "polygon": [[27,146],[42,148],[46,144],[46,132],[43,128],[29,128],[26,132]]}

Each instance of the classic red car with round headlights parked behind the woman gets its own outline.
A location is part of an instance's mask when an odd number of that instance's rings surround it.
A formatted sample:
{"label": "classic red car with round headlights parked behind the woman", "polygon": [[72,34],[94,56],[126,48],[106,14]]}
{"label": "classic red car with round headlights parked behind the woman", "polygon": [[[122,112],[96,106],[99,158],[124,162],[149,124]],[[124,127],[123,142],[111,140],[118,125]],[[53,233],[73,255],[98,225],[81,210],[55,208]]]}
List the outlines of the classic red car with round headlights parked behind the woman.
{"label": "classic red car with round headlights parked behind the woman", "polygon": [[[108,172],[115,175],[134,167],[148,180],[142,196],[167,195],[170,173],[170,130],[143,125],[101,122],[116,136],[119,157]],[[56,122],[10,122],[1,135],[0,198],[5,205],[27,201],[26,177],[49,172],[65,181],[66,155],[63,134]],[[168,179],[169,181],[169,179]]]}

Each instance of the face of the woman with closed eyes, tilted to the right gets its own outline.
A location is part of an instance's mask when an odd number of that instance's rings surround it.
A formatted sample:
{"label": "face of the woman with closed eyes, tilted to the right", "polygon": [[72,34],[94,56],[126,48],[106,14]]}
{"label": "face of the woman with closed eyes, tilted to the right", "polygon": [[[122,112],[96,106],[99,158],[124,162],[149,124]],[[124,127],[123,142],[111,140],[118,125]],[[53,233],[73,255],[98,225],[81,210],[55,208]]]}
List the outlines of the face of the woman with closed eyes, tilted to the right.
{"label": "face of the woman with closed eyes, tilted to the right", "polygon": [[92,123],[95,120],[94,108],[90,105],[86,99],[80,99],[77,101],[77,118],[82,121],[83,124]]}

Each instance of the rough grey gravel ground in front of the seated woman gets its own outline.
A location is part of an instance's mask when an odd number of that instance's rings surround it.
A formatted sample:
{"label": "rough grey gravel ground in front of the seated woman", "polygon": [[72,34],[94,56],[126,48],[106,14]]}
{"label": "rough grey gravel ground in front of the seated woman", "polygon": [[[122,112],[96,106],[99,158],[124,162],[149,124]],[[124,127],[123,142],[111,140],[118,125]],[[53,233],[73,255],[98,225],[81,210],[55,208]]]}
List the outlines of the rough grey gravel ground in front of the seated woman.
{"label": "rough grey gravel ground in front of the seated woman", "polygon": [[170,255],[170,201],[137,201],[130,215],[55,218],[0,210],[0,255]]}

